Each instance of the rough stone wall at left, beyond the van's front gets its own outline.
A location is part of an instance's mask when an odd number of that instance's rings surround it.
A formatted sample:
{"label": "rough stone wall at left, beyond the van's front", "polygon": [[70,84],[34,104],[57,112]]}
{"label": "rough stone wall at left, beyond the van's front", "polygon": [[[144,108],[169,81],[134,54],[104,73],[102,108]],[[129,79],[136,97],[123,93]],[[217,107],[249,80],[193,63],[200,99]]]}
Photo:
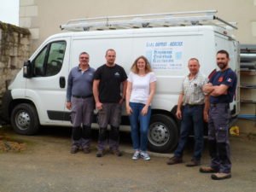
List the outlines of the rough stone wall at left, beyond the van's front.
{"label": "rough stone wall at left, beyond the van's front", "polygon": [[0,97],[30,54],[30,36],[28,29],[0,21]]}

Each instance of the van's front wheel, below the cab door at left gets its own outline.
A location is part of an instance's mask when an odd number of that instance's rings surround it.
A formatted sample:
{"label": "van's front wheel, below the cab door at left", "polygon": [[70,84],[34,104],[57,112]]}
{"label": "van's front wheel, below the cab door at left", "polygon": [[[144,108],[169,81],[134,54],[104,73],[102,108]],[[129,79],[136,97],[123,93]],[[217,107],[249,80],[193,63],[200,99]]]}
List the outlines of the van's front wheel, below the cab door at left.
{"label": "van's front wheel, below the cab door at left", "polygon": [[17,105],[11,113],[11,125],[21,135],[33,135],[39,129],[38,113],[31,104]]}

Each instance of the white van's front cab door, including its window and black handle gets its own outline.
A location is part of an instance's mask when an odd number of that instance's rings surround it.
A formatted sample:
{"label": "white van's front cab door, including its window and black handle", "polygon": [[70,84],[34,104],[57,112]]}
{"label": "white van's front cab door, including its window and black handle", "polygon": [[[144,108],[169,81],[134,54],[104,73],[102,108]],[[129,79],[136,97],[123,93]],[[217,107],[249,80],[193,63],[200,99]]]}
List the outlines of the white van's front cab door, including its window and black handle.
{"label": "white van's front cab door, including its window and black handle", "polygon": [[32,59],[33,77],[26,79],[26,97],[34,102],[41,125],[61,125],[66,102],[69,38],[46,44]]}

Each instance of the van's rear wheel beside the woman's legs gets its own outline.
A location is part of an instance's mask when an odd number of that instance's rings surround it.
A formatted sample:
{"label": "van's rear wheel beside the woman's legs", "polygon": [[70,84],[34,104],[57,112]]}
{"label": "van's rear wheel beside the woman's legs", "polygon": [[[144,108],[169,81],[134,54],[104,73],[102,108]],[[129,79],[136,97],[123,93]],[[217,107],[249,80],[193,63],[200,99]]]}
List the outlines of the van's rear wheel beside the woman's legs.
{"label": "van's rear wheel beside the woman's legs", "polygon": [[148,148],[166,153],[177,146],[178,131],[175,121],[166,114],[153,114],[148,129]]}

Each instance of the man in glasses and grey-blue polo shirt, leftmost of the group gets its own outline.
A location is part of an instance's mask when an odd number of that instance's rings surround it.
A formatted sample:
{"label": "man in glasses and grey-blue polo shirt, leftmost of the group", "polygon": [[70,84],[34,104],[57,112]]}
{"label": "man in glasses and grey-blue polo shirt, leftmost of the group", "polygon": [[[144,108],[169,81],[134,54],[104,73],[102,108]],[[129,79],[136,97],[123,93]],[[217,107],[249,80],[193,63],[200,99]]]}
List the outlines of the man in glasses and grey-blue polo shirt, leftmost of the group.
{"label": "man in glasses and grey-blue polo shirt, leftmost of the group", "polygon": [[90,153],[90,125],[93,117],[94,98],[92,83],[95,69],[89,66],[89,54],[79,55],[79,66],[73,67],[67,79],[67,104],[71,110],[73,124],[72,147],[70,153],[75,154],[79,148],[85,154]]}

